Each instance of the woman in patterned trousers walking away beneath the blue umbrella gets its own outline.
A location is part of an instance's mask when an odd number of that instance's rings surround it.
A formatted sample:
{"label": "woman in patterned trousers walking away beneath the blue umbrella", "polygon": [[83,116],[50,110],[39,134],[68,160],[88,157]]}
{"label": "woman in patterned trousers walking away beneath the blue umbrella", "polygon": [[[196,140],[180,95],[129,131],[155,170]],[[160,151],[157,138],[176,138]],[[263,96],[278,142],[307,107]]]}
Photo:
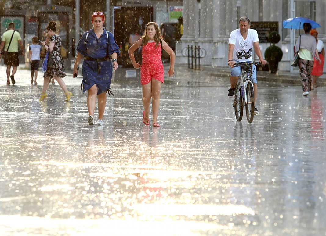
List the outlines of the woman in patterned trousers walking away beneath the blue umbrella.
{"label": "woman in patterned trousers walking away beneath the blue umbrella", "polygon": [[307,96],[311,91],[311,71],[314,66],[316,39],[310,35],[311,24],[304,23],[304,35],[300,35],[295,44],[295,51],[299,51],[299,72],[304,90],[302,96]]}

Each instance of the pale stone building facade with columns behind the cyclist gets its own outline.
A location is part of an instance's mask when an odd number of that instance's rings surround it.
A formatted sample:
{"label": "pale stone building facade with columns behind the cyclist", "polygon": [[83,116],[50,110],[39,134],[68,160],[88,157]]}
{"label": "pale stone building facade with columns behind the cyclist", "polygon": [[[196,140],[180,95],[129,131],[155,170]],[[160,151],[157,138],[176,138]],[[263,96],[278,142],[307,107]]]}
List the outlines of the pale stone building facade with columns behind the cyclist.
{"label": "pale stone building facade with columns behind the cyclist", "polygon": [[[326,43],[325,0],[184,0],[184,35],[176,45],[177,63],[187,63],[185,48],[200,46],[206,56],[200,63],[214,67],[227,66],[228,40],[231,31],[239,27],[238,19],[246,16],[250,21],[276,21],[281,41],[277,44],[283,51],[279,70],[290,71],[293,58],[293,40],[299,30],[283,29],[283,20],[302,16],[321,25],[316,30],[318,39]],[[295,35],[294,35],[295,33]],[[304,31],[301,30],[301,34]],[[294,41],[295,42],[295,41]],[[259,43],[262,54],[270,43]],[[253,56],[253,59],[258,60]],[[325,66],[324,66],[325,71]]]}

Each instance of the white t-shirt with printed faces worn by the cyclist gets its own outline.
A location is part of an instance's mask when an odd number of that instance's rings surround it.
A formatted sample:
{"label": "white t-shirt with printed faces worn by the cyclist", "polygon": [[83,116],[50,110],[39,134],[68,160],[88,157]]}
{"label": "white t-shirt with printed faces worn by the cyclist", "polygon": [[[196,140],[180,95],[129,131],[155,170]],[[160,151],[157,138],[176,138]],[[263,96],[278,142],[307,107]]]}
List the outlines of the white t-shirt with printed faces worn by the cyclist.
{"label": "white t-shirt with printed faces worn by the cyclist", "polygon": [[232,59],[239,62],[252,62],[251,54],[255,42],[259,42],[256,30],[248,29],[246,39],[242,37],[240,29],[233,30],[229,38],[229,44],[234,44]]}

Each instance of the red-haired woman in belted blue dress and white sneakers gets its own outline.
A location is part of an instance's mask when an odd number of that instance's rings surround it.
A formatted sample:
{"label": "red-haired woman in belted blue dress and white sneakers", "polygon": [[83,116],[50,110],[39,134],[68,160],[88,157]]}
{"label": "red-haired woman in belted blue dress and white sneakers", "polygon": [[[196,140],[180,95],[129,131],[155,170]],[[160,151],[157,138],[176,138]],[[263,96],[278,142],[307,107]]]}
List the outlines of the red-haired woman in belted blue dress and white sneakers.
{"label": "red-haired woman in belted blue dress and white sneakers", "polygon": [[[102,12],[93,12],[93,29],[85,32],[77,44],[77,57],[73,77],[78,75],[77,67],[82,64],[82,92],[87,90],[87,108],[89,125],[94,125],[94,111],[98,106],[97,125],[104,125],[103,115],[106,104],[106,92],[110,95],[112,79],[112,62],[114,70],[118,69],[117,57],[120,55],[113,35],[103,29],[105,16]],[[112,59],[112,62],[110,60]]]}

